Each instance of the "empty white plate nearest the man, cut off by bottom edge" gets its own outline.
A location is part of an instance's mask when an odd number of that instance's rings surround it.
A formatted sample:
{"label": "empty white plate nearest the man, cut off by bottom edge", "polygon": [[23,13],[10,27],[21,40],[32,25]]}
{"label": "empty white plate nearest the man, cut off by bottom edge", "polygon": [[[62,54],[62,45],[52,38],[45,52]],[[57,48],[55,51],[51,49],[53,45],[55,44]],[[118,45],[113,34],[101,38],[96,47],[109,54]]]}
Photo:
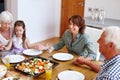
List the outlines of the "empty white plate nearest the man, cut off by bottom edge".
{"label": "empty white plate nearest the man, cut off by bottom edge", "polygon": [[59,80],[84,80],[85,76],[77,71],[63,71],[58,74]]}

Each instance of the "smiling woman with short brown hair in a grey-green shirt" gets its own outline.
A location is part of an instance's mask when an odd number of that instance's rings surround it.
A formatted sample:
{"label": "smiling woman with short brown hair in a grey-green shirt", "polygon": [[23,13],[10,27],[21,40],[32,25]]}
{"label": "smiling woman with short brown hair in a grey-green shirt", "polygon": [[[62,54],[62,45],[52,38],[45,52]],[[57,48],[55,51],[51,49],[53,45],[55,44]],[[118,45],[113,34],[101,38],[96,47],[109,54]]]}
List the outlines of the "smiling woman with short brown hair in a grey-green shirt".
{"label": "smiling woman with short brown hair in a grey-green shirt", "polygon": [[[65,31],[59,43],[53,45],[48,50],[59,50],[64,46],[71,54],[77,54],[86,60],[95,60],[93,44],[85,32],[85,21],[79,15],[73,15],[69,20],[69,29]],[[76,63],[77,61],[75,61]]]}

